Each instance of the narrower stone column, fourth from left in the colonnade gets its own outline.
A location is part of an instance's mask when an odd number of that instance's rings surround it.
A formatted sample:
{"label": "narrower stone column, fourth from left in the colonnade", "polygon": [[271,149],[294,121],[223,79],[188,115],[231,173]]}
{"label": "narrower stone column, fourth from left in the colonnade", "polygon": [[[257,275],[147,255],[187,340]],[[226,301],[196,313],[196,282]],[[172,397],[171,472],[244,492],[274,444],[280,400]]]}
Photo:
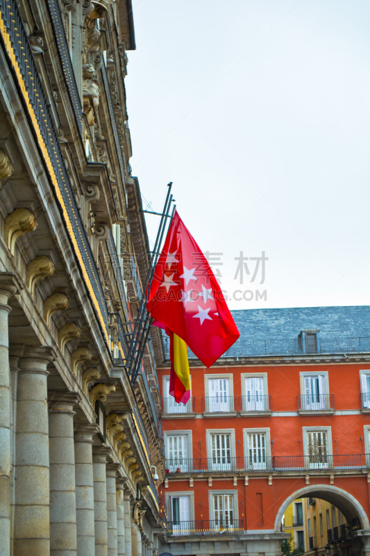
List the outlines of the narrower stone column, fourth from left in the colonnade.
{"label": "narrower stone column, fourth from left in the colonnade", "polygon": [[95,553],[94,474],[92,437],[96,425],[79,425],[74,434],[74,470],[76,473],[77,555]]}

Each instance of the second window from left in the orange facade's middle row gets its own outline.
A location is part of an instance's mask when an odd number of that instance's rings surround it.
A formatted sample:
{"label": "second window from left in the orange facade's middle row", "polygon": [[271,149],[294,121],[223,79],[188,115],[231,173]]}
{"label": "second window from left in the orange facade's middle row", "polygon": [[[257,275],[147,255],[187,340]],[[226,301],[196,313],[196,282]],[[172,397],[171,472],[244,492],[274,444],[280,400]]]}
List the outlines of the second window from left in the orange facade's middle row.
{"label": "second window from left in the orange facade's middle row", "polygon": [[208,471],[235,468],[235,431],[207,430]]}

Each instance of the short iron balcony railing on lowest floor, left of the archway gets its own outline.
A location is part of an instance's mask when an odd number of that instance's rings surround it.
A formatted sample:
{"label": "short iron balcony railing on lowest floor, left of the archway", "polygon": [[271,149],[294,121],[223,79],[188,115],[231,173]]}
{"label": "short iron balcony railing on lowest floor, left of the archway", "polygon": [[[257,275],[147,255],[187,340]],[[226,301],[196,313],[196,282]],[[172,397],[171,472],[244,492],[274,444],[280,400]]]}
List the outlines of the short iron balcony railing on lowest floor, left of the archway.
{"label": "short iron balcony railing on lowest floor, left of the archway", "polygon": [[195,521],[169,521],[169,537],[203,537],[210,534],[235,534],[244,532],[242,519],[197,519]]}

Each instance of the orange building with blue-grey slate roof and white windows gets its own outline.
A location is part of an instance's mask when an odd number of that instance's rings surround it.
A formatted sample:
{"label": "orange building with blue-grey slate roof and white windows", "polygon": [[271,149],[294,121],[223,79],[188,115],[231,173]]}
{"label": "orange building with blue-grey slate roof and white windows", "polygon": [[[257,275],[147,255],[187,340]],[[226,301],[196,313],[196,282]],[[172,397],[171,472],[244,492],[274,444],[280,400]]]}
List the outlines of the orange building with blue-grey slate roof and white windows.
{"label": "orange building with blue-grey slate roof and white windows", "polygon": [[158,368],[167,473],[162,552],[279,554],[285,510],[310,497],[335,505],[350,525],[338,551],[367,553],[370,307],[233,316],[241,338],[225,356],[212,368],[190,360],[186,406],[169,397],[167,362]]}

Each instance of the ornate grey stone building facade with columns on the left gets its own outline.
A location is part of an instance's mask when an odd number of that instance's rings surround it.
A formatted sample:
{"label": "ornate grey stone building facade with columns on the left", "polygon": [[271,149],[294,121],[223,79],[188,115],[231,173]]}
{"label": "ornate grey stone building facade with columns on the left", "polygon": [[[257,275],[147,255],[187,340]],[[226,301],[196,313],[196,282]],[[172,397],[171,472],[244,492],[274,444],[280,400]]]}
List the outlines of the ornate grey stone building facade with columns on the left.
{"label": "ornate grey stone building facade with columns on the left", "polygon": [[134,48],[131,0],[0,0],[1,556],[158,554],[155,331],[129,364]]}

